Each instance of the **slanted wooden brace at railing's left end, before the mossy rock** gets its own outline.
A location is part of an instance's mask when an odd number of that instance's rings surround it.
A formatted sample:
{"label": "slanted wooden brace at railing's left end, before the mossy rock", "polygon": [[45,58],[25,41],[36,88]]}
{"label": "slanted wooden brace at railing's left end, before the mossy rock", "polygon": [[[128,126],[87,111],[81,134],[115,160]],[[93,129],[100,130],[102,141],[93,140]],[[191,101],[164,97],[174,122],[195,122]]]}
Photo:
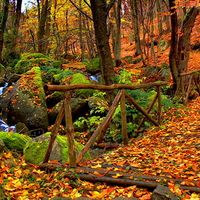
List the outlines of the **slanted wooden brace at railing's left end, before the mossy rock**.
{"label": "slanted wooden brace at railing's left end, before the mossy rock", "polygon": [[51,138],[50,138],[50,141],[49,141],[49,146],[48,146],[46,155],[44,157],[43,163],[46,163],[49,160],[49,157],[50,157],[50,154],[51,154],[51,151],[52,151],[52,148],[53,148],[53,144],[54,144],[54,141],[55,141],[56,136],[58,134],[58,129],[60,127],[60,124],[62,122],[63,117],[64,117],[64,102],[63,102],[63,104],[62,104],[62,106],[60,108],[60,111],[59,111],[58,116],[56,118],[56,122],[55,122],[55,124],[53,126],[53,130],[52,130],[52,133],[51,133]]}

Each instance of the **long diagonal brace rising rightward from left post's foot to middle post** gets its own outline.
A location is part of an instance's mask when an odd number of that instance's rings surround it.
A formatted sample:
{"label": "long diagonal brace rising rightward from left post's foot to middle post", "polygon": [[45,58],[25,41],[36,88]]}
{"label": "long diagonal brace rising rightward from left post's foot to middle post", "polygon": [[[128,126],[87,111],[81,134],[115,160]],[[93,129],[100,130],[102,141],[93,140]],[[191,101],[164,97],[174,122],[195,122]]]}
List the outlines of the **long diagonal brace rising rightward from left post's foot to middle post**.
{"label": "long diagonal brace rising rightward from left post's foot to middle post", "polygon": [[96,131],[93,133],[93,135],[90,137],[90,139],[88,140],[88,142],[86,143],[85,147],[82,149],[82,151],[79,153],[79,155],[77,156],[77,160],[76,163],[79,163],[83,156],[85,155],[85,153],[87,152],[87,150],[91,147],[91,145],[93,144],[93,142],[95,141],[96,137],[98,135],[100,135],[101,137],[103,136],[103,132],[106,131],[106,129],[108,128],[109,122],[112,119],[112,116],[117,108],[117,105],[120,101],[122,92],[119,91],[113,101],[113,104],[110,108],[110,110],[108,111],[105,119],[101,122],[101,124],[99,124],[99,126],[97,127]]}

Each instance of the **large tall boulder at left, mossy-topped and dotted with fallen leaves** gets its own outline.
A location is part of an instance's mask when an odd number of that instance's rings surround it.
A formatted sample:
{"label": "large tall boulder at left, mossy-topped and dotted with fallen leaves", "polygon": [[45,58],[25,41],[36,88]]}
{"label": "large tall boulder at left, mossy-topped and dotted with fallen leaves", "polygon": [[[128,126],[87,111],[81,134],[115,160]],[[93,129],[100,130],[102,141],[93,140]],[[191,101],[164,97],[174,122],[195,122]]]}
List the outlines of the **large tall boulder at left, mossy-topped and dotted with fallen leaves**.
{"label": "large tall boulder at left, mossy-topped and dotted with fallen leaves", "polygon": [[[15,92],[12,92],[11,96],[12,90]],[[40,68],[33,67],[17,81],[15,87],[8,88],[8,91],[10,98],[7,94],[4,95],[9,101],[8,107],[4,108],[8,112],[8,124],[21,122],[29,130],[37,128],[46,130],[48,115]]]}

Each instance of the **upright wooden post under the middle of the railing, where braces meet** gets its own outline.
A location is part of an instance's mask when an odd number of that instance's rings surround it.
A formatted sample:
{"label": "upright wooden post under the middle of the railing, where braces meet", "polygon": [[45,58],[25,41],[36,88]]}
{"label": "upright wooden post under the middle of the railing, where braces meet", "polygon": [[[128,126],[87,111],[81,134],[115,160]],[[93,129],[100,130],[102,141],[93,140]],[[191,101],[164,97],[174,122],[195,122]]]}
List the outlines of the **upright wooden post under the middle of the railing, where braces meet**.
{"label": "upright wooden post under the middle of the railing, where braces meet", "polygon": [[121,120],[122,120],[122,141],[123,141],[124,145],[127,145],[128,144],[128,134],[127,134],[126,105],[125,105],[124,89],[122,89],[120,106],[121,106]]}

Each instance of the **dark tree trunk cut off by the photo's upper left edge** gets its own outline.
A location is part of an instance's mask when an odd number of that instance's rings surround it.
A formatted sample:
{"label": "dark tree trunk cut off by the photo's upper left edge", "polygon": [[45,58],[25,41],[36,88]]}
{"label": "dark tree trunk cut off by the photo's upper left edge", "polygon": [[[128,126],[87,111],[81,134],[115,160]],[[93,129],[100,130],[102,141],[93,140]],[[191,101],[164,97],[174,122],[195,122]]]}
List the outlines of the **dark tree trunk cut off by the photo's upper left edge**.
{"label": "dark tree trunk cut off by the photo's upper left edge", "polygon": [[3,43],[4,43],[4,31],[6,28],[6,21],[8,18],[8,5],[9,0],[3,1],[3,8],[1,13],[1,21],[0,21],[0,62],[2,62],[2,51],[3,51]]}

